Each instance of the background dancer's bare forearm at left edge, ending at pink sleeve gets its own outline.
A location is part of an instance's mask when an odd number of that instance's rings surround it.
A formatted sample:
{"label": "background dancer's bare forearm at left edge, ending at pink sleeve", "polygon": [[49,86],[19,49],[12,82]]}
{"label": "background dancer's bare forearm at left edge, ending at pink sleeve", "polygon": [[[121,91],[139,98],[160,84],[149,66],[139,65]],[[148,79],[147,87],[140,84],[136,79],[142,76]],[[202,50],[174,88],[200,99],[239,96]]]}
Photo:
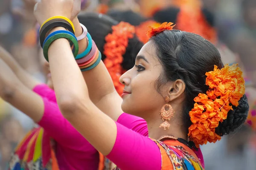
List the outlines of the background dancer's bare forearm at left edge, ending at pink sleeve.
{"label": "background dancer's bare forearm at left edge, ending at pink sleeve", "polygon": [[44,113],[41,96],[27,88],[15,73],[0,59],[0,97],[39,122]]}

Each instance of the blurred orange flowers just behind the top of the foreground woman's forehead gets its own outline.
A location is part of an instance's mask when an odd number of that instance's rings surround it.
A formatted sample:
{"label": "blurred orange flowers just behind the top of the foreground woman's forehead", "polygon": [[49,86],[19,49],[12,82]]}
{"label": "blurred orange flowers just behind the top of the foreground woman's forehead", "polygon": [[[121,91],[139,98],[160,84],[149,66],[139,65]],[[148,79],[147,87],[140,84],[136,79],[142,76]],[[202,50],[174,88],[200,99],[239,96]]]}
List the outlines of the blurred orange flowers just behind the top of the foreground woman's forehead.
{"label": "blurred orange flowers just behind the top of the foreground woman's forehead", "polygon": [[145,21],[135,28],[136,35],[139,38],[139,40],[145,44],[149,40],[149,37],[146,34],[148,31],[148,27],[159,27],[160,25],[160,23],[157,23],[154,20]]}

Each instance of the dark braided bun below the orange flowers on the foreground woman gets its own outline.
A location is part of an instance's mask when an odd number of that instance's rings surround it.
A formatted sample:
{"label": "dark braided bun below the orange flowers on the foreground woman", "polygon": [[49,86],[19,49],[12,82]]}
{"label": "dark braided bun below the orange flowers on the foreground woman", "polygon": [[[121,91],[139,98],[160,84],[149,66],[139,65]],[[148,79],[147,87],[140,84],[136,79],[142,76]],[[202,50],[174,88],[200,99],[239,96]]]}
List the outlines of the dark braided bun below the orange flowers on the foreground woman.
{"label": "dark braided bun below the orange flowers on the foreground woman", "polygon": [[219,136],[227,135],[236,129],[240,128],[247,119],[249,112],[249,105],[245,94],[239,100],[239,105],[233,106],[233,111],[227,113],[227,119],[222,123],[219,122],[218,127],[215,128],[215,133]]}

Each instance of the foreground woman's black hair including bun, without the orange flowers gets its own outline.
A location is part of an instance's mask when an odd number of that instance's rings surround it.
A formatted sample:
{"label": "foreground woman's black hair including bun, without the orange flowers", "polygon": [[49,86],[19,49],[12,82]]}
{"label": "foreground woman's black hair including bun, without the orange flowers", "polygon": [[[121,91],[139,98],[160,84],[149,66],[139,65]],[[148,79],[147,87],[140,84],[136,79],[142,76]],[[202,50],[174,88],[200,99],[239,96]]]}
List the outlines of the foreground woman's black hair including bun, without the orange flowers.
{"label": "foreground woman's black hair including bun, without the orange flowers", "polygon": [[[165,41],[163,41],[165,40]],[[192,125],[189,111],[194,107],[194,98],[199,93],[206,94],[206,72],[213,71],[214,65],[223,68],[221,56],[215,46],[203,37],[179,30],[163,31],[149,40],[156,46],[156,54],[163,65],[163,74],[155,85],[159,93],[160,87],[168,81],[182,79],[186,84],[183,106],[184,131]],[[238,107],[229,111],[227,119],[216,128],[220,135],[228,134],[243,124],[248,114],[247,98],[244,95]]]}

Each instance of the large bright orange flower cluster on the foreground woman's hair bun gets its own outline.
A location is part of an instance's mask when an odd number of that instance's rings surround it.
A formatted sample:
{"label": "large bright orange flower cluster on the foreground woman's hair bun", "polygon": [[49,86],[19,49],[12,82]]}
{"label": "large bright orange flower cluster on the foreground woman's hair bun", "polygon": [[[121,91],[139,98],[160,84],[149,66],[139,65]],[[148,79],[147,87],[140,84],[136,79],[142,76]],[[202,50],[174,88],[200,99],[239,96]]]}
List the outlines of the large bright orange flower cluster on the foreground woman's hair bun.
{"label": "large bright orange flower cluster on the foreground woman's hair bun", "polygon": [[192,125],[189,127],[189,140],[199,144],[216,142],[221,136],[215,133],[219,122],[227,119],[227,113],[233,110],[232,105],[238,106],[239,100],[244,95],[245,85],[242,71],[238,64],[225,65],[205,74],[206,85],[209,86],[207,94],[198,94],[195,105],[189,116]]}

